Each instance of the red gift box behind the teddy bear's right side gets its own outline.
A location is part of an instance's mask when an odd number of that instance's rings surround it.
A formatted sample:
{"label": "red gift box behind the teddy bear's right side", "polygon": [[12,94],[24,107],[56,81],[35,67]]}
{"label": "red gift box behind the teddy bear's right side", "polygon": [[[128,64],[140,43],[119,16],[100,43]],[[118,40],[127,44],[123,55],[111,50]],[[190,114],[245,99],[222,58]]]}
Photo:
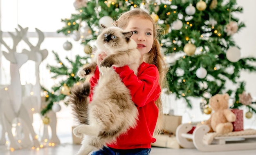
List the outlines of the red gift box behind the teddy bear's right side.
{"label": "red gift box behind the teddy bear's right side", "polygon": [[243,131],[244,130],[243,110],[231,109],[231,111],[236,115],[236,121],[232,122],[234,126],[233,131]]}

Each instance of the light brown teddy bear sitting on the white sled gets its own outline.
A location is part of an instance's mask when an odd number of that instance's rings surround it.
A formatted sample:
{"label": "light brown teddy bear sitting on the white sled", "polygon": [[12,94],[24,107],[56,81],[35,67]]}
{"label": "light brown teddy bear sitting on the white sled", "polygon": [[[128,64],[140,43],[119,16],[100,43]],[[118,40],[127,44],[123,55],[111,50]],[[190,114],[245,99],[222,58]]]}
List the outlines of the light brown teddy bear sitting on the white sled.
{"label": "light brown teddy bear sitting on the white sled", "polygon": [[204,121],[204,124],[210,127],[209,132],[220,134],[233,131],[233,124],[236,120],[236,115],[229,110],[229,94],[216,94],[209,99],[209,106],[213,110],[209,120]]}

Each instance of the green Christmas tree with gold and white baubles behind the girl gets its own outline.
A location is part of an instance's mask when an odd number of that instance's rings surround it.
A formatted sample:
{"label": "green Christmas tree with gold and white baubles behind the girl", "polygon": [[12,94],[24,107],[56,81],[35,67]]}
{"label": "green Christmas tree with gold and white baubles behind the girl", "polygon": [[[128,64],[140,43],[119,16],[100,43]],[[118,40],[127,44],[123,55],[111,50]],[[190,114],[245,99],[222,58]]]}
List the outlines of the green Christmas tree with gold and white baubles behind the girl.
{"label": "green Christmas tree with gold and white baubles behind the girl", "polygon": [[[212,95],[228,93],[235,98],[231,108],[246,105],[249,111],[256,112],[250,106],[251,98],[244,93],[245,82],[238,81],[240,71],[256,71],[251,65],[256,59],[240,58],[240,48],[232,38],[245,27],[233,15],[243,11],[236,0],[75,0],[74,7],[77,13],[62,19],[65,26],[57,32],[79,40],[86,53],[95,48],[100,24],[113,26],[120,13],[144,9],[164,29],[159,42],[170,66],[166,93],[184,98],[188,107],[189,97],[201,97],[207,103]],[[226,90],[227,81],[237,89]],[[249,104],[240,100],[242,94]]]}

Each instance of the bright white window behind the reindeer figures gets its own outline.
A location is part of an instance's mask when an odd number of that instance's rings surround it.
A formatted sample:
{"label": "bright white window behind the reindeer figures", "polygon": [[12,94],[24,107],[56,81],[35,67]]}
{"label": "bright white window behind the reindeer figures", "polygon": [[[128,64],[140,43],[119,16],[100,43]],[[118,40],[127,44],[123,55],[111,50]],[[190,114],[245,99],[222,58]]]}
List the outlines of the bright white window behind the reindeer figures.
{"label": "bright white window behind the reindeer figures", "polygon": [[[35,28],[44,33],[45,38],[40,45],[40,49],[47,49],[48,56],[40,63],[39,74],[40,84],[47,89],[51,89],[54,84],[58,84],[58,80],[52,79],[49,70],[46,68],[47,64],[57,65],[52,51],[57,52],[63,62],[65,62],[65,57],[72,59],[77,54],[84,54],[83,46],[80,45],[80,42],[74,41],[70,36],[56,33],[58,29],[64,26],[61,19],[70,18],[71,14],[76,12],[73,2],[74,0],[0,0],[2,39],[11,49],[13,40],[8,32],[16,34],[15,29],[19,29],[18,24],[22,28],[28,27],[27,38],[33,46],[38,43],[38,34]],[[73,45],[70,51],[63,49],[63,43],[67,40]],[[30,50],[24,41],[20,41],[16,52],[21,53],[23,49]],[[0,88],[11,83],[10,62],[2,55],[2,51],[9,52],[4,45],[0,44]],[[20,67],[21,84],[34,85],[36,83],[35,73],[35,62],[28,60]],[[68,133],[71,135],[73,118],[70,109],[63,103],[59,104],[62,110],[56,113],[58,119],[57,134]],[[40,125],[42,124],[40,121],[40,115],[37,113],[34,115],[33,126],[38,134],[42,132],[43,128]]]}

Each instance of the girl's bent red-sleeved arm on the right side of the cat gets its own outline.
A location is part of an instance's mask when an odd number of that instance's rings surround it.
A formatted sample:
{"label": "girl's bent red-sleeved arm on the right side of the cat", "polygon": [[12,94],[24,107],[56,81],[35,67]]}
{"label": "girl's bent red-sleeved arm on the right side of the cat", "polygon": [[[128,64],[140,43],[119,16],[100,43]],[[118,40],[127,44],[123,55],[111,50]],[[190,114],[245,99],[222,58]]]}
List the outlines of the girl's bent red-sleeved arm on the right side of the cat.
{"label": "girl's bent red-sleeved arm on the right side of the cat", "polygon": [[159,97],[161,89],[156,66],[142,64],[137,76],[128,66],[118,67],[115,70],[126,87],[130,89],[132,101],[137,106],[144,106]]}

